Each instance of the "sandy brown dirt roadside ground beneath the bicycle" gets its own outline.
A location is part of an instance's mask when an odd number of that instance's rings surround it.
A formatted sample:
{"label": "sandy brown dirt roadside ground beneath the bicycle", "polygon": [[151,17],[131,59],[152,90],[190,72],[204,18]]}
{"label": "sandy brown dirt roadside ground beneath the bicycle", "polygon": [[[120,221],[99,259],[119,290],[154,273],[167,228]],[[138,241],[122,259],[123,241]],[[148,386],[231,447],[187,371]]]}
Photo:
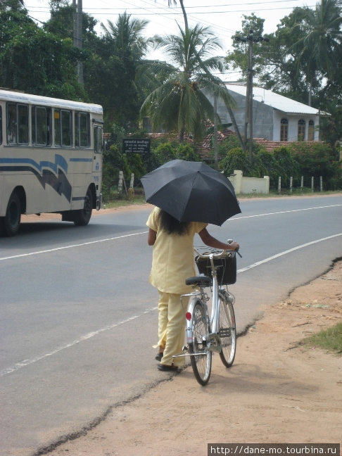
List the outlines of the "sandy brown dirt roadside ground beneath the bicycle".
{"label": "sandy brown dirt roadside ground beneath the bicycle", "polygon": [[341,321],[342,261],[263,310],[238,338],[233,367],[213,357],[207,386],[191,367],[167,372],[167,381],[49,456],[205,456],[208,443],[342,443],[341,354],[300,343]]}

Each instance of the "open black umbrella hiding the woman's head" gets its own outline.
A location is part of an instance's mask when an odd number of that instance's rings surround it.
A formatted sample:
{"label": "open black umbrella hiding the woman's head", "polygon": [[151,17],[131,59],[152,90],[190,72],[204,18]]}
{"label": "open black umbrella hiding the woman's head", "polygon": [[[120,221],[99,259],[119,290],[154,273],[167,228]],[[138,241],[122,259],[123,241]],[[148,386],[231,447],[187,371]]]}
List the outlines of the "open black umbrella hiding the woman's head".
{"label": "open black umbrella hiding the woman's head", "polygon": [[141,182],[146,201],[179,222],[221,226],[241,213],[229,179],[202,162],[171,160],[141,177]]}

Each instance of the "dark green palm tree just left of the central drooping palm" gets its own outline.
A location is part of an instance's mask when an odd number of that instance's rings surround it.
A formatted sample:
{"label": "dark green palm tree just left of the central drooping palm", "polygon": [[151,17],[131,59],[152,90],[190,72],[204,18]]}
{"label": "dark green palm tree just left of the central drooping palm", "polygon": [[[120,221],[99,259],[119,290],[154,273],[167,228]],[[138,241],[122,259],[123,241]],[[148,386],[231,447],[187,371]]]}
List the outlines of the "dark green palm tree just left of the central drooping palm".
{"label": "dark green palm tree just left of the central drooping palm", "polygon": [[[143,32],[146,20],[124,13],[116,23],[101,25],[104,32],[96,53],[84,63],[84,82],[91,99],[103,106],[106,122],[117,123],[128,130],[136,129],[144,96],[139,82],[143,58],[150,45]],[[137,74],[141,75],[137,84]],[[96,81],[96,84],[94,82]]]}

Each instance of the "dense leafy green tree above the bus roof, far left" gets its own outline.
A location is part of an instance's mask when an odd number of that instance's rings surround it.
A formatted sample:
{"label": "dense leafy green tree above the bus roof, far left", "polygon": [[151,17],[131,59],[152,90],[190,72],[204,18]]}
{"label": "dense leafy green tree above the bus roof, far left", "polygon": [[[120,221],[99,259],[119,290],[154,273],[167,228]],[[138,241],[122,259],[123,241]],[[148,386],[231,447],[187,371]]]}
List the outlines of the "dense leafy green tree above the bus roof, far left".
{"label": "dense leafy green tree above the bus roof, far left", "polygon": [[[14,5],[14,6],[13,6]],[[13,7],[12,7],[13,6]],[[77,83],[77,50],[38,27],[15,1],[0,9],[0,85],[32,94],[83,99]],[[18,65],[20,63],[20,65]]]}

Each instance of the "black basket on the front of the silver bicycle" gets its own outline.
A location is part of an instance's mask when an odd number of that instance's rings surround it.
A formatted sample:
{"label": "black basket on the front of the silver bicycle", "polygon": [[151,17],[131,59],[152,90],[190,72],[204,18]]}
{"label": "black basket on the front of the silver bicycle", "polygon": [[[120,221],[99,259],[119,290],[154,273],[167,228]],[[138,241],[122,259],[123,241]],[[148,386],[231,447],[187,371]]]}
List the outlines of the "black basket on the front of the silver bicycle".
{"label": "black basket on the front of the silver bicycle", "polygon": [[[210,258],[196,256],[198,272],[211,277]],[[214,266],[217,268],[217,283],[220,285],[232,285],[236,282],[236,254],[228,252],[225,258],[214,258]]]}

